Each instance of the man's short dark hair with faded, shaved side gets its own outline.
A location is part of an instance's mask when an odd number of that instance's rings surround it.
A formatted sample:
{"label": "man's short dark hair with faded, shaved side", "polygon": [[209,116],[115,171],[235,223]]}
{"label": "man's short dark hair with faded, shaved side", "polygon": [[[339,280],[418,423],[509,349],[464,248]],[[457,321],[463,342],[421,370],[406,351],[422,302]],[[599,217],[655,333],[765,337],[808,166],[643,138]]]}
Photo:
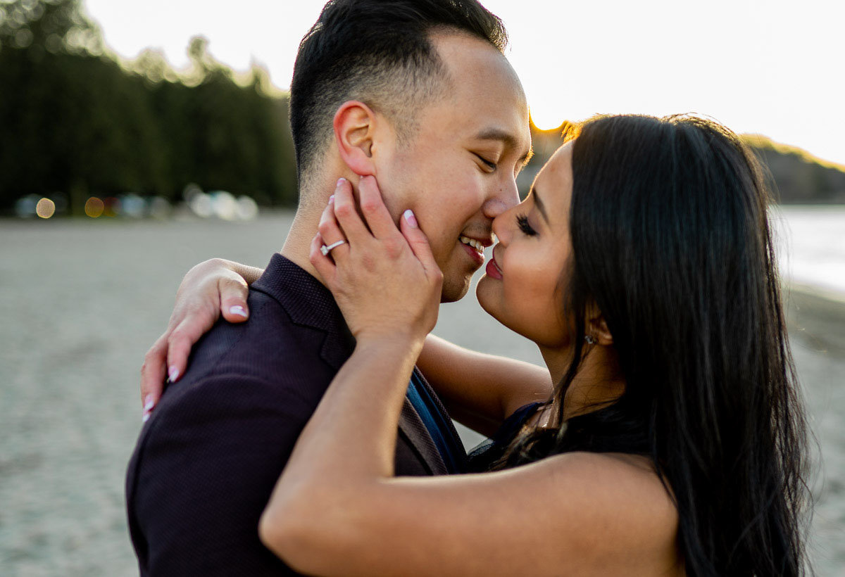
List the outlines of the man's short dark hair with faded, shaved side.
{"label": "man's short dark hair with faded, shaved side", "polygon": [[502,21],[477,0],[330,0],[297,53],[291,128],[300,180],[323,154],[332,119],[362,101],[412,132],[417,109],[444,90],[446,72],[431,41],[450,30],[507,45]]}

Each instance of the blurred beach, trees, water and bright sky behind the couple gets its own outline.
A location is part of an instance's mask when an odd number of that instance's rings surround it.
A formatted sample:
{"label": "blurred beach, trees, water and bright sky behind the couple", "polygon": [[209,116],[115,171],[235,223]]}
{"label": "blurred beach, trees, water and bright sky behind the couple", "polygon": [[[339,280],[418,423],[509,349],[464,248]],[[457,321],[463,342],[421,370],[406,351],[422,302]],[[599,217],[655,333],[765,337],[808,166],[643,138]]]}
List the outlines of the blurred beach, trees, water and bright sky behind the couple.
{"label": "blurred beach, trees, water and bright sky behind the couple", "polygon": [[[123,475],[139,367],[191,266],[281,248],[297,200],[286,87],[322,4],[0,0],[0,574],[137,574]],[[485,5],[532,108],[523,190],[561,128],[596,113],[706,114],[766,162],[819,444],[811,553],[843,574],[845,8]],[[436,332],[542,362],[472,296]]]}

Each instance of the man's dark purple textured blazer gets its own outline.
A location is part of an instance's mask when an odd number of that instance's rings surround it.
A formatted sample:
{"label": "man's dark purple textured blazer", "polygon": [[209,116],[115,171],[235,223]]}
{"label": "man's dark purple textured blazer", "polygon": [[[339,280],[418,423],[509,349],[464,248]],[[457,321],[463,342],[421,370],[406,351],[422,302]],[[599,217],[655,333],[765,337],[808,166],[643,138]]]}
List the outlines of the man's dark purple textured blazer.
{"label": "man's dark purple textured blazer", "polygon": [[[248,303],[246,323],[218,323],[199,341],[141,430],[126,498],[142,575],[293,574],[259,541],[259,516],[354,340],[330,291],[281,254]],[[457,442],[454,429],[445,436]],[[396,475],[446,472],[406,400]]]}

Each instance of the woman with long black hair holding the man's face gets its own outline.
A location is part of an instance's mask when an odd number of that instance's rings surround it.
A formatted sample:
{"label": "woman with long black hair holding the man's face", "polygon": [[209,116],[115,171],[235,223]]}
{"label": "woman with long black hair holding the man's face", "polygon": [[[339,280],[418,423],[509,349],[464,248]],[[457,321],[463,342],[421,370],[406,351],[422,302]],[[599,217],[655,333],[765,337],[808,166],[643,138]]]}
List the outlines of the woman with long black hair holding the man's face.
{"label": "woman with long black hair holding the man's face", "polygon": [[[477,288],[540,347],[551,394],[473,455],[488,472],[410,479],[392,458],[413,364],[461,353],[425,340],[440,275],[412,215],[400,234],[379,204],[364,226],[338,188],[312,263],[357,347],[270,498],[264,543],[314,574],[803,574],[804,413],[768,201],[713,122],[587,122],[494,220]],[[466,355],[434,367],[435,388],[477,380]]]}

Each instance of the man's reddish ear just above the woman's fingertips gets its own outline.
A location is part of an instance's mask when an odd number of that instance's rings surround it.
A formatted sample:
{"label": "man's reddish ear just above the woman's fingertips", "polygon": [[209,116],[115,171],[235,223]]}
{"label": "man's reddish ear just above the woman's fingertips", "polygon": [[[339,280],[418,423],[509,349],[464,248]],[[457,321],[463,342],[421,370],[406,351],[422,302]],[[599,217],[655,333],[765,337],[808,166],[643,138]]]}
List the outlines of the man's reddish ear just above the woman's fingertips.
{"label": "man's reddish ear just above the woman's fingertips", "polygon": [[376,116],[359,101],[344,102],[335,112],[335,141],[346,166],[363,177],[375,174],[373,138]]}

